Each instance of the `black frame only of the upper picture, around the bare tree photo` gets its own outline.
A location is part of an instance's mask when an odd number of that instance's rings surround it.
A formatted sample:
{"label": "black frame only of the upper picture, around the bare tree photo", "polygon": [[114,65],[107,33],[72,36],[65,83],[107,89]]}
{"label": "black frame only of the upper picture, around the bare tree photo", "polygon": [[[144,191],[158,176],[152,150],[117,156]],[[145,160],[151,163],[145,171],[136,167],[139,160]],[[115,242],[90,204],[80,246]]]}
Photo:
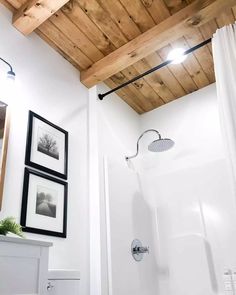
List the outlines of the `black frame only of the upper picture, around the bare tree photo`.
{"label": "black frame only of the upper picture, around the bare tree photo", "polygon": [[[33,132],[33,120],[34,118],[48,124],[52,128],[55,128],[59,132],[62,132],[65,135],[65,146],[64,146],[64,173],[60,173],[48,167],[45,167],[39,163],[35,163],[31,160],[31,150],[32,150],[32,132]],[[25,165],[31,166],[35,169],[44,171],[48,174],[55,175],[59,178],[63,178],[67,180],[68,177],[68,132],[57,125],[51,123],[50,121],[46,120],[45,118],[41,117],[40,115],[29,111],[28,116],[28,129],[27,129],[27,139],[26,139],[26,152],[25,152]]]}

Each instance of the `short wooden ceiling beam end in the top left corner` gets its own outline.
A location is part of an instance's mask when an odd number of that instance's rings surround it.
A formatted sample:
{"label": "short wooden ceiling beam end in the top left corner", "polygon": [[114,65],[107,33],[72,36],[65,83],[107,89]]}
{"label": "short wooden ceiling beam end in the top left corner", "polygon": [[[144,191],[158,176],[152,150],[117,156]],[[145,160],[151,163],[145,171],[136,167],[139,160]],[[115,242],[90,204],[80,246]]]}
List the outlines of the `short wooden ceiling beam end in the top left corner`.
{"label": "short wooden ceiling beam end in the top left corner", "polygon": [[69,0],[28,0],[13,15],[13,25],[24,35],[32,33]]}

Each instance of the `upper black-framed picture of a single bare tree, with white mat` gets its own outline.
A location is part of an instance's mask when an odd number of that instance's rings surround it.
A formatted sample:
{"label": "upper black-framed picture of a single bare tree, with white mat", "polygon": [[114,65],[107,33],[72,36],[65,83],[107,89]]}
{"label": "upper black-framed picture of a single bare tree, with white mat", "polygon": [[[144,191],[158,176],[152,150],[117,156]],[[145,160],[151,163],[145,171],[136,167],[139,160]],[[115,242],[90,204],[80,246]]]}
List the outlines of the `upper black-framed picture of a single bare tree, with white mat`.
{"label": "upper black-framed picture of a single bare tree, with white mat", "polygon": [[67,179],[68,132],[29,111],[25,165]]}

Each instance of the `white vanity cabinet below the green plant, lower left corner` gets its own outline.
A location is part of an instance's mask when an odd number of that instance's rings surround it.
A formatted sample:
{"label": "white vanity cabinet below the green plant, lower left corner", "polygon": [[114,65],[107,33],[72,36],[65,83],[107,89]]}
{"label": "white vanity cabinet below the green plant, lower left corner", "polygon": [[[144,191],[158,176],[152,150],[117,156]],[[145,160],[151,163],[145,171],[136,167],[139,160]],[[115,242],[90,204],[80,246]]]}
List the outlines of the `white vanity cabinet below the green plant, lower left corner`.
{"label": "white vanity cabinet below the green plant, lower left corner", "polygon": [[51,246],[43,241],[0,236],[0,294],[48,294]]}

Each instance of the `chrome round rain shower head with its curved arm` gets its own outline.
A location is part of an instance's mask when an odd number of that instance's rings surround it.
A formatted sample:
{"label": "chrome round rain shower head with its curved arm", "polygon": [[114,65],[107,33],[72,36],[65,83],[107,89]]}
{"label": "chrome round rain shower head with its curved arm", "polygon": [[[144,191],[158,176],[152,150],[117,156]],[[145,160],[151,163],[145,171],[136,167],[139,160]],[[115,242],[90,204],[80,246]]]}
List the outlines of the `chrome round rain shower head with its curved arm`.
{"label": "chrome round rain shower head with its curved arm", "polygon": [[137,151],[136,154],[131,156],[131,157],[125,157],[126,160],[132,159],[137,157],[138,153],[139,153],[139,141],[140,139],[143,137],[143,135],[147,132],[155,132],[158,135],[158,139],[152,141],[149,145],[148,145],[148,150],[150,152],[164,152],[167,151],[169,149],[171,149],[174,146],[174,141],[172,139],[169,138],[162,138],[161,134],[156,130],[156,129],[148,129],[146,131],[144,131],[138,138],[137,141]]}

